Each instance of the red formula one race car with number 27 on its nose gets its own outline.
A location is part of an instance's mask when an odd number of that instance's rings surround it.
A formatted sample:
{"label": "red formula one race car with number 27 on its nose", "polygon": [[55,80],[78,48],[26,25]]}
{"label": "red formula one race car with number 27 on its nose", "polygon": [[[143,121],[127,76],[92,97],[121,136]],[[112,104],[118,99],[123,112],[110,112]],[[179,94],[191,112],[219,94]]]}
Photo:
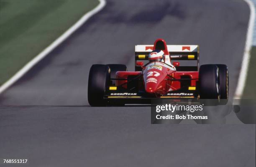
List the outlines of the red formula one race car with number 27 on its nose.
{"label": "red formula one race car with number 27 on its nose", "polygon": [[[194,61],[195,66],[180,66],[180,61]],[[215,105],[226,104],[228,68],[224,64],[199,68],[199,46],[166,45],[163,39],[154,45],[135,46],[135,71],[127,71],[122,64],[94,64],[90,68],[91,106],[151,104],[154,99],[212,99]]]}

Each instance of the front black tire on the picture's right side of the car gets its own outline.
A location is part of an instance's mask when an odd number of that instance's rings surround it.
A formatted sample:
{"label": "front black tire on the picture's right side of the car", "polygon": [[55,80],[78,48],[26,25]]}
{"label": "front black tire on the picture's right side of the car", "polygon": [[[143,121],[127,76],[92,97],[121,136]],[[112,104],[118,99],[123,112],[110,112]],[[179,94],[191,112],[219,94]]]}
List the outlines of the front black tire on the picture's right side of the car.
{"label": "front black tire on the picture's right side of the car", "polygon": [[218,105],[220,101],[219,69],[215,64],[205,64],[199,69],[200,102]]}

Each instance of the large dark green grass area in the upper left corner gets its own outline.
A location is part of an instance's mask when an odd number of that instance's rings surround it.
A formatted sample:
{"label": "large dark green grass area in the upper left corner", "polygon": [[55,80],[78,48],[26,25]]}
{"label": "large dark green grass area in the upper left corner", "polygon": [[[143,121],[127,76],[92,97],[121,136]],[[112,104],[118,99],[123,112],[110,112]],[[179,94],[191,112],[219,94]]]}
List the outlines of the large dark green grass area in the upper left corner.
{"label": "large dark green grass area in the upper left corner", "polygon": [[0,0],[0,85],[98,3]]}

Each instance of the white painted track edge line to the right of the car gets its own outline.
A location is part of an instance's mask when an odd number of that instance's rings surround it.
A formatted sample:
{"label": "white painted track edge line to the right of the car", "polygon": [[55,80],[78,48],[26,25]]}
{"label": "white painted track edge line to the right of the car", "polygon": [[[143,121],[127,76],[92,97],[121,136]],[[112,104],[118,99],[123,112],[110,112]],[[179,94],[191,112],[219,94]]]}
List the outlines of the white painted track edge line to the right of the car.
{"label": "white painted track edge line to the right of the car", "polygon": [[235,96],[234,99],[241,99],[243,95],[243,89],[246,83],[247,71],[248,71],[248,63],[251,56],[251,46],[252,46],[252,39],[253,39],[253,26],[255,20],[255,7],[251,0],[244,0],[250,8],[250,19],[248,23],[248,30],[246,35],[246,44],[243,53],[243,60],[241,65],[241,70],[238,78],[238,83],[236,86]]}

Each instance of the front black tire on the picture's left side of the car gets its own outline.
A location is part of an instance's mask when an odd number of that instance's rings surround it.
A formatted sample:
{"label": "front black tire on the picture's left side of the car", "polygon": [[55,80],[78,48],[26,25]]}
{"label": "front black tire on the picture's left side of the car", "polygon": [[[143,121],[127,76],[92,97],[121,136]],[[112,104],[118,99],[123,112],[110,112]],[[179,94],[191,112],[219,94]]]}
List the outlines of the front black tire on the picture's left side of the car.
{"label": "front black tire on the picture's left side of the car", "polygon": [[91,106],[106,106],[104,94],[110,83],[110,68],[94,64],[90,68],[88,79],[88,102]]}

